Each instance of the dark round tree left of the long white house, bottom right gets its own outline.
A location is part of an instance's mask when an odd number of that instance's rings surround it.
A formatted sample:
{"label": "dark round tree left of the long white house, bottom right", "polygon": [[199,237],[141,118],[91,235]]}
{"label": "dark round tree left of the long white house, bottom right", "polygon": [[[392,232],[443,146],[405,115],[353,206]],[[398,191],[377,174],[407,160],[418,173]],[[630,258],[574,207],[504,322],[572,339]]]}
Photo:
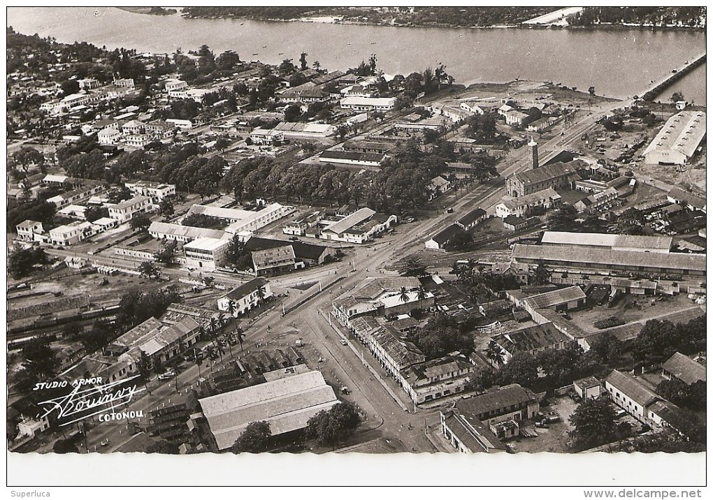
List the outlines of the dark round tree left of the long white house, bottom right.
{"label": "dark round tree left of the long white house, bottom right", "polygon": [[605,397],[584,400],[570,416],[574,429],[570,435],[581,449],[609,442],[616,432],[616,415]]}

